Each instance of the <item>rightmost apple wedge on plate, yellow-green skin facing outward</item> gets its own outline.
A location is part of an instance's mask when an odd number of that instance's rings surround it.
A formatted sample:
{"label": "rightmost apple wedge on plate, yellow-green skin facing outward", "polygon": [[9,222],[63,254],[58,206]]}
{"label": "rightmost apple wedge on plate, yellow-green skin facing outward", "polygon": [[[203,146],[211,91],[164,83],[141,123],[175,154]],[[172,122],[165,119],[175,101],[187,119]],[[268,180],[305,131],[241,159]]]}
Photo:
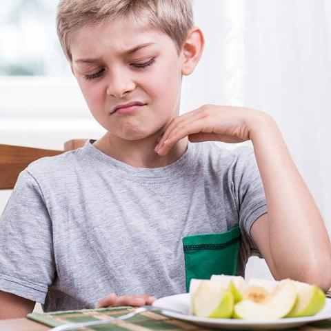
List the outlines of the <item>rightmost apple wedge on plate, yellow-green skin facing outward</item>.
{"label": "rightmost apple wedge on plate, yellow-green skin facing outward", "polygon": [[312,316],[321,311],[325,305],[325,294],[316,285],[297,286],[297,301],[285,317]]}

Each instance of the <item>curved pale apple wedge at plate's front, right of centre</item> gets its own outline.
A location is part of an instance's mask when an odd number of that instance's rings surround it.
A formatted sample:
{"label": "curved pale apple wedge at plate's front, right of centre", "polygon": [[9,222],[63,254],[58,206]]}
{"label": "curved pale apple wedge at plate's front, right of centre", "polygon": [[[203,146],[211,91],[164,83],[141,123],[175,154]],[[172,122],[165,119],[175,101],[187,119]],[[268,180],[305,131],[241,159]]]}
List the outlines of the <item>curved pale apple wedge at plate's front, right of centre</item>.
{"label": "curved pale apple wedge at plate's front, right of centre", "polygon": [[261,303],[243,299],[234,305],[236,319],[281,319],[292,310],[297,299],[297,290],[290,279],[279,283],[270,297]]}

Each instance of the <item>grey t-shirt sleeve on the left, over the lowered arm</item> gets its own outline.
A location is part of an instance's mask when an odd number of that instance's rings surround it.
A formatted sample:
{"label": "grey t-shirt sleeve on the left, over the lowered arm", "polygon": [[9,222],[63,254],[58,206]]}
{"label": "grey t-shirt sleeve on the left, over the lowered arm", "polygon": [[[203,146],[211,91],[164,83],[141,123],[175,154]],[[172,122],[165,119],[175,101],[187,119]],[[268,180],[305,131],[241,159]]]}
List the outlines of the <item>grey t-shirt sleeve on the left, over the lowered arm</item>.
{"label": "grey t-shirt sleeve on the left, over the lowered arm", "polygon": [[0,290],[44,303],[54,273],[50,216],[39,184],[23,170],[0,217]]}

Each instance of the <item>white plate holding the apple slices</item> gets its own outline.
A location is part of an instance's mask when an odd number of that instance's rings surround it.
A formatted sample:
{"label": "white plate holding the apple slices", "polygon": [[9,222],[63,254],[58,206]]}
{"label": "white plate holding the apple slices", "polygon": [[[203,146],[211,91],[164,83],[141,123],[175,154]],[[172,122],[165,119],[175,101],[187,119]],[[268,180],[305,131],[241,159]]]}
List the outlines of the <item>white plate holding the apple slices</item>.
{"label": "white plate holding the apple slices", "polygon": [[[178,310],[188,314],[190,311],[190,294],[177,294],[170,297],[164,297],[154,301],[153,305],[160,308],[169,308],[173,310]],[[326,298],[325,306],[318,314],[309,317],[296,317],[296,318],[286,318],[286,319],[277,319],[274,321],[270,320],[260,320],[260,321],[248,321],[243,319],[210,319],[196,317],[193,315],[184,315],[177,314],[175,312],[165,312],[162,311],[162,314],[173,317],[175,319],[181,319],[183,321],[188,321],[191,323],[205,325],[209,328],[223,328],[223,329],[285,329],[293,328],[295,326],[303,325],[306,323],[311,323],[314,321],[321,321],[322,319],[331,319],[331,299]]]}

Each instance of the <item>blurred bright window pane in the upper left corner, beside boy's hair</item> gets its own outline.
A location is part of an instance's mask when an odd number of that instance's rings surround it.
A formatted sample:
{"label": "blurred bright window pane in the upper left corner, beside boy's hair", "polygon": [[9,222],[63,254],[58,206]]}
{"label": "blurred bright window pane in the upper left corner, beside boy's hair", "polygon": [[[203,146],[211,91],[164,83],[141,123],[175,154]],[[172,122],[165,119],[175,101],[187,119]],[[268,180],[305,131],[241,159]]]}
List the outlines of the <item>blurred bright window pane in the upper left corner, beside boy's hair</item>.
{"label": "blurred bright window pane in the upper left corner, beside boy's hair", "polygon": [[68,76],[55,26],[58,0],[1,1],[0,76]]}

